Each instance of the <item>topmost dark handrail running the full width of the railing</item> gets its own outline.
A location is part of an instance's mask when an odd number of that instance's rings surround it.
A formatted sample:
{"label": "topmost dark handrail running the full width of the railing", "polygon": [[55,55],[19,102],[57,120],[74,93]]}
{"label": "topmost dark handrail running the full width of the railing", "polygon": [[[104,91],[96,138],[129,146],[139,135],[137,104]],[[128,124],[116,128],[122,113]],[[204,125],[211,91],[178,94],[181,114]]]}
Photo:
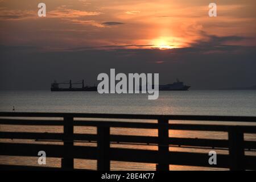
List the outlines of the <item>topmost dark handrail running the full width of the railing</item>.
{"label": "topmost dark handrail running the full width of the railing", "polygon": [[255,116],[227,116],[227,115],[0,112],[0,117],[73,117],[73,118],[107,118],[107,119],[169,119],[169,120],[186,120],[186,121],[256,122]]}

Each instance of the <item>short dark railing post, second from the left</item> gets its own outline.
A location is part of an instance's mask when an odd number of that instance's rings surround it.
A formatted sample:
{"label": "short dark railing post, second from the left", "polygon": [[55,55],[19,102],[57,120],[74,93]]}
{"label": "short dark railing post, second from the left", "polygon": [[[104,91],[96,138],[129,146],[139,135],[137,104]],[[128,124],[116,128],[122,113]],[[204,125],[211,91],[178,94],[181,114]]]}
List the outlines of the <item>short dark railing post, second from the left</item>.
{"label": "short dark railing post, second from the left", "polygon": [[97,169],[110,171],[110,127],[97,127]]}

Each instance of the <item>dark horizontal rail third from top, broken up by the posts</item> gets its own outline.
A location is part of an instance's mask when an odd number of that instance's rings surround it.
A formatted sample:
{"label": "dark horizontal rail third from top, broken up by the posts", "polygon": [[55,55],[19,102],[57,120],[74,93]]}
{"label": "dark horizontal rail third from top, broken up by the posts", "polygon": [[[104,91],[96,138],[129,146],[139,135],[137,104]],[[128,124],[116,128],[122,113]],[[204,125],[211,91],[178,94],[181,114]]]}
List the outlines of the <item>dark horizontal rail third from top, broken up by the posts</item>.
{"label": "dark horizontal rail third from top, broken up by the posts", "polygon": [[[22,133],[22,132],[0,132],[0,138],[5,139],[35,139],[35,140],[60,140],[63,141],[63,133]],[[73,139],[81,141],[97,141],[96,134],[73,134]],[[111,142],[158,144],[158,137],[144,137],[135,135],[110,135]],[[177,146],[195,147],[229,147],[228,140],[199,139],[199,138],[169,138],[168,144]],[[255,149],[256,142],[246,141],[246,148]]]}

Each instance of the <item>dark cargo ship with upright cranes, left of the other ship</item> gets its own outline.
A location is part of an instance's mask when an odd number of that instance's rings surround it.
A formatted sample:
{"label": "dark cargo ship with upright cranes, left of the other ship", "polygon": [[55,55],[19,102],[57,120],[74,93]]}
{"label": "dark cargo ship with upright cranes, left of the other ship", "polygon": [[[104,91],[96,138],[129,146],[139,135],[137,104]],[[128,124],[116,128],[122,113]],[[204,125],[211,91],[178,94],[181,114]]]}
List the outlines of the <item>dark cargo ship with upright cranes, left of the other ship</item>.
{"label": "dark cargo ship with upright cranes, left of the other ship", "polygon": [[[69,88],[60,88],[59,85],[69,85]],[[75,88],[73,85],[82,85],[81,88]],[[60,82],[54,81],[51,84],[51,92],[96,92],[97,86],[84,86],[84,80],[82,82],[72,83],[72,80],[69,82]]]}

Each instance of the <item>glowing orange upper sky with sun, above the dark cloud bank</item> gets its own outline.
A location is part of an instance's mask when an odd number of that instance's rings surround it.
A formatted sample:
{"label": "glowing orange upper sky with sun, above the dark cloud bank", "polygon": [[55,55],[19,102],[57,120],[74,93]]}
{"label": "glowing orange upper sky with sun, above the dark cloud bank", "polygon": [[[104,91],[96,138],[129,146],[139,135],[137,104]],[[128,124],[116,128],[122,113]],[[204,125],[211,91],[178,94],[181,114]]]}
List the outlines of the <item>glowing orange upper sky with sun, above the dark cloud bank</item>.
{"label": "glowing orange upper sky with sun, above the dark cloud bank", "polygon": [[[39,2],[46,3],[46,18],[37,15]],[[255,0],[214,2],[218,16],[210,18],[209,2],[203,0],[0,0],[0,40],[46,49],[165,49],[189,47],[216,35],[246,36],[226,44],[256,46]]]}

